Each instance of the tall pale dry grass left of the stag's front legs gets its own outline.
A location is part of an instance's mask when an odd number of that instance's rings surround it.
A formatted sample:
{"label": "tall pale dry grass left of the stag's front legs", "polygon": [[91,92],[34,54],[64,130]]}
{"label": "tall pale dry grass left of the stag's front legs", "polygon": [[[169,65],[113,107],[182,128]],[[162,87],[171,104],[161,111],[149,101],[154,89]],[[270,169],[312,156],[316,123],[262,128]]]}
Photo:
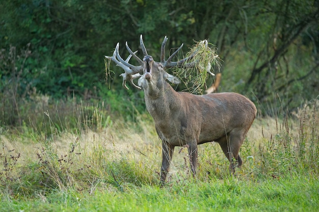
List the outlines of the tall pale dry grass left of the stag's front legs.
{"label": "tall pale dry grass left of the stag's front legs", "polygon": [[153,137],[152,129],[121,118],[113,121],[103,105],[81,102],[71,108],[64,108],[67,115],[42,110],[43,117],[29,118],[32,127],[2,131],[3,194],[19,198],[68,189],[93,192],[111,185],[122,190],[123,183],[154,181],[156,173],[145,174],[148,159],[139,161],[143,152],[154,149],[150,142],[141,143]]}

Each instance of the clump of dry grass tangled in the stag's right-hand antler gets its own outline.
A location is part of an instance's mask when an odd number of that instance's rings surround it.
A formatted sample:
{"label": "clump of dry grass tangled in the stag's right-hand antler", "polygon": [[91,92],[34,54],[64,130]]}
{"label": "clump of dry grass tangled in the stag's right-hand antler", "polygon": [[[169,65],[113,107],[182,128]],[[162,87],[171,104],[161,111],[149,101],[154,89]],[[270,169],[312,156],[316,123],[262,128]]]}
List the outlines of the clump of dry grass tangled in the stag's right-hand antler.
{"label": "clump of dry grass tangled in the stag's right-hand antler", "polygon": [[214,75],[215,69],[220,69],[221,59],[217,54],[217,48],[207,41],[196,42],[186,56],[194,56],[189,59],[188,63],[195,63],[195,67],[192,68],[175,68],[173,72],[177,75],[183,83],[186,85],[187,90],[191,93],[202,94],[205,86],[206,79],[208,77],[207,70],[210,75]]}

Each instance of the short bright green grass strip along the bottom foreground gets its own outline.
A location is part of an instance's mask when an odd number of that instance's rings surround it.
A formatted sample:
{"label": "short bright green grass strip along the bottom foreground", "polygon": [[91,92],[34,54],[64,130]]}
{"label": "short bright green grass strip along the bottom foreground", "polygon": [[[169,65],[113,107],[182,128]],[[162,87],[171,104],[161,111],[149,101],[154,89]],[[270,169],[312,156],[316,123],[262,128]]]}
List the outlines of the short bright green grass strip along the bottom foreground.
{"label": "short bright green grass strip along the bottom foreground", "polygon": [[2,201],[6,211],[317,211],[318,179],[287,176],[246,181],[227,178],[185,181],[163,189],[127,186],[93,194],[65,191]]}

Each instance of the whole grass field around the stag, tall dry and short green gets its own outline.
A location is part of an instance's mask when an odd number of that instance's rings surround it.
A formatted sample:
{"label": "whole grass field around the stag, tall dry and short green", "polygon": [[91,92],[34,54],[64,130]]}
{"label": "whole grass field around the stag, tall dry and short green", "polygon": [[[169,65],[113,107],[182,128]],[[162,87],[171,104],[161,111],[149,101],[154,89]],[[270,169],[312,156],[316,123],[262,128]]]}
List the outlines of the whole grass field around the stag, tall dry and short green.
{"label": "whole grass field around the stag, tall dry and short green", "polygon": [[[82,108],[83,111],[86,108]],[[175,150],[159,188],[161,141],[148,114],[124,122],[99,116],[57,129],[0,129],[1,211],[318,211],[318,104],[257,117],[228,174],[219,145],[199,146],[198,175],[187,149]],[[60,122],[66,122],[61,118]],[[67,126],[67,125],[66,125]]]}

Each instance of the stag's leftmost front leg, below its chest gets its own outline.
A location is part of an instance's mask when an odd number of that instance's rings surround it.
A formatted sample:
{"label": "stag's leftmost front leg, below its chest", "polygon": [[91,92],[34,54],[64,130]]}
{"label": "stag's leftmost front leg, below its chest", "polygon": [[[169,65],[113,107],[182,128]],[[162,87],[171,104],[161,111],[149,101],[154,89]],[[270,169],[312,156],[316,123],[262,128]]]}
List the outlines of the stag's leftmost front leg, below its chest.
{"label": "stag's leftmost front leg, below its chest", "polygon": [[162,155],[162,168],[161,168],[161,186],[164,185],[165,179],[167,176],[167,173],[169,172],[173,153],[174,153],[174,146],[169,144],[166,141],[162,141],[162,149],[163,149],[163,155]]}

